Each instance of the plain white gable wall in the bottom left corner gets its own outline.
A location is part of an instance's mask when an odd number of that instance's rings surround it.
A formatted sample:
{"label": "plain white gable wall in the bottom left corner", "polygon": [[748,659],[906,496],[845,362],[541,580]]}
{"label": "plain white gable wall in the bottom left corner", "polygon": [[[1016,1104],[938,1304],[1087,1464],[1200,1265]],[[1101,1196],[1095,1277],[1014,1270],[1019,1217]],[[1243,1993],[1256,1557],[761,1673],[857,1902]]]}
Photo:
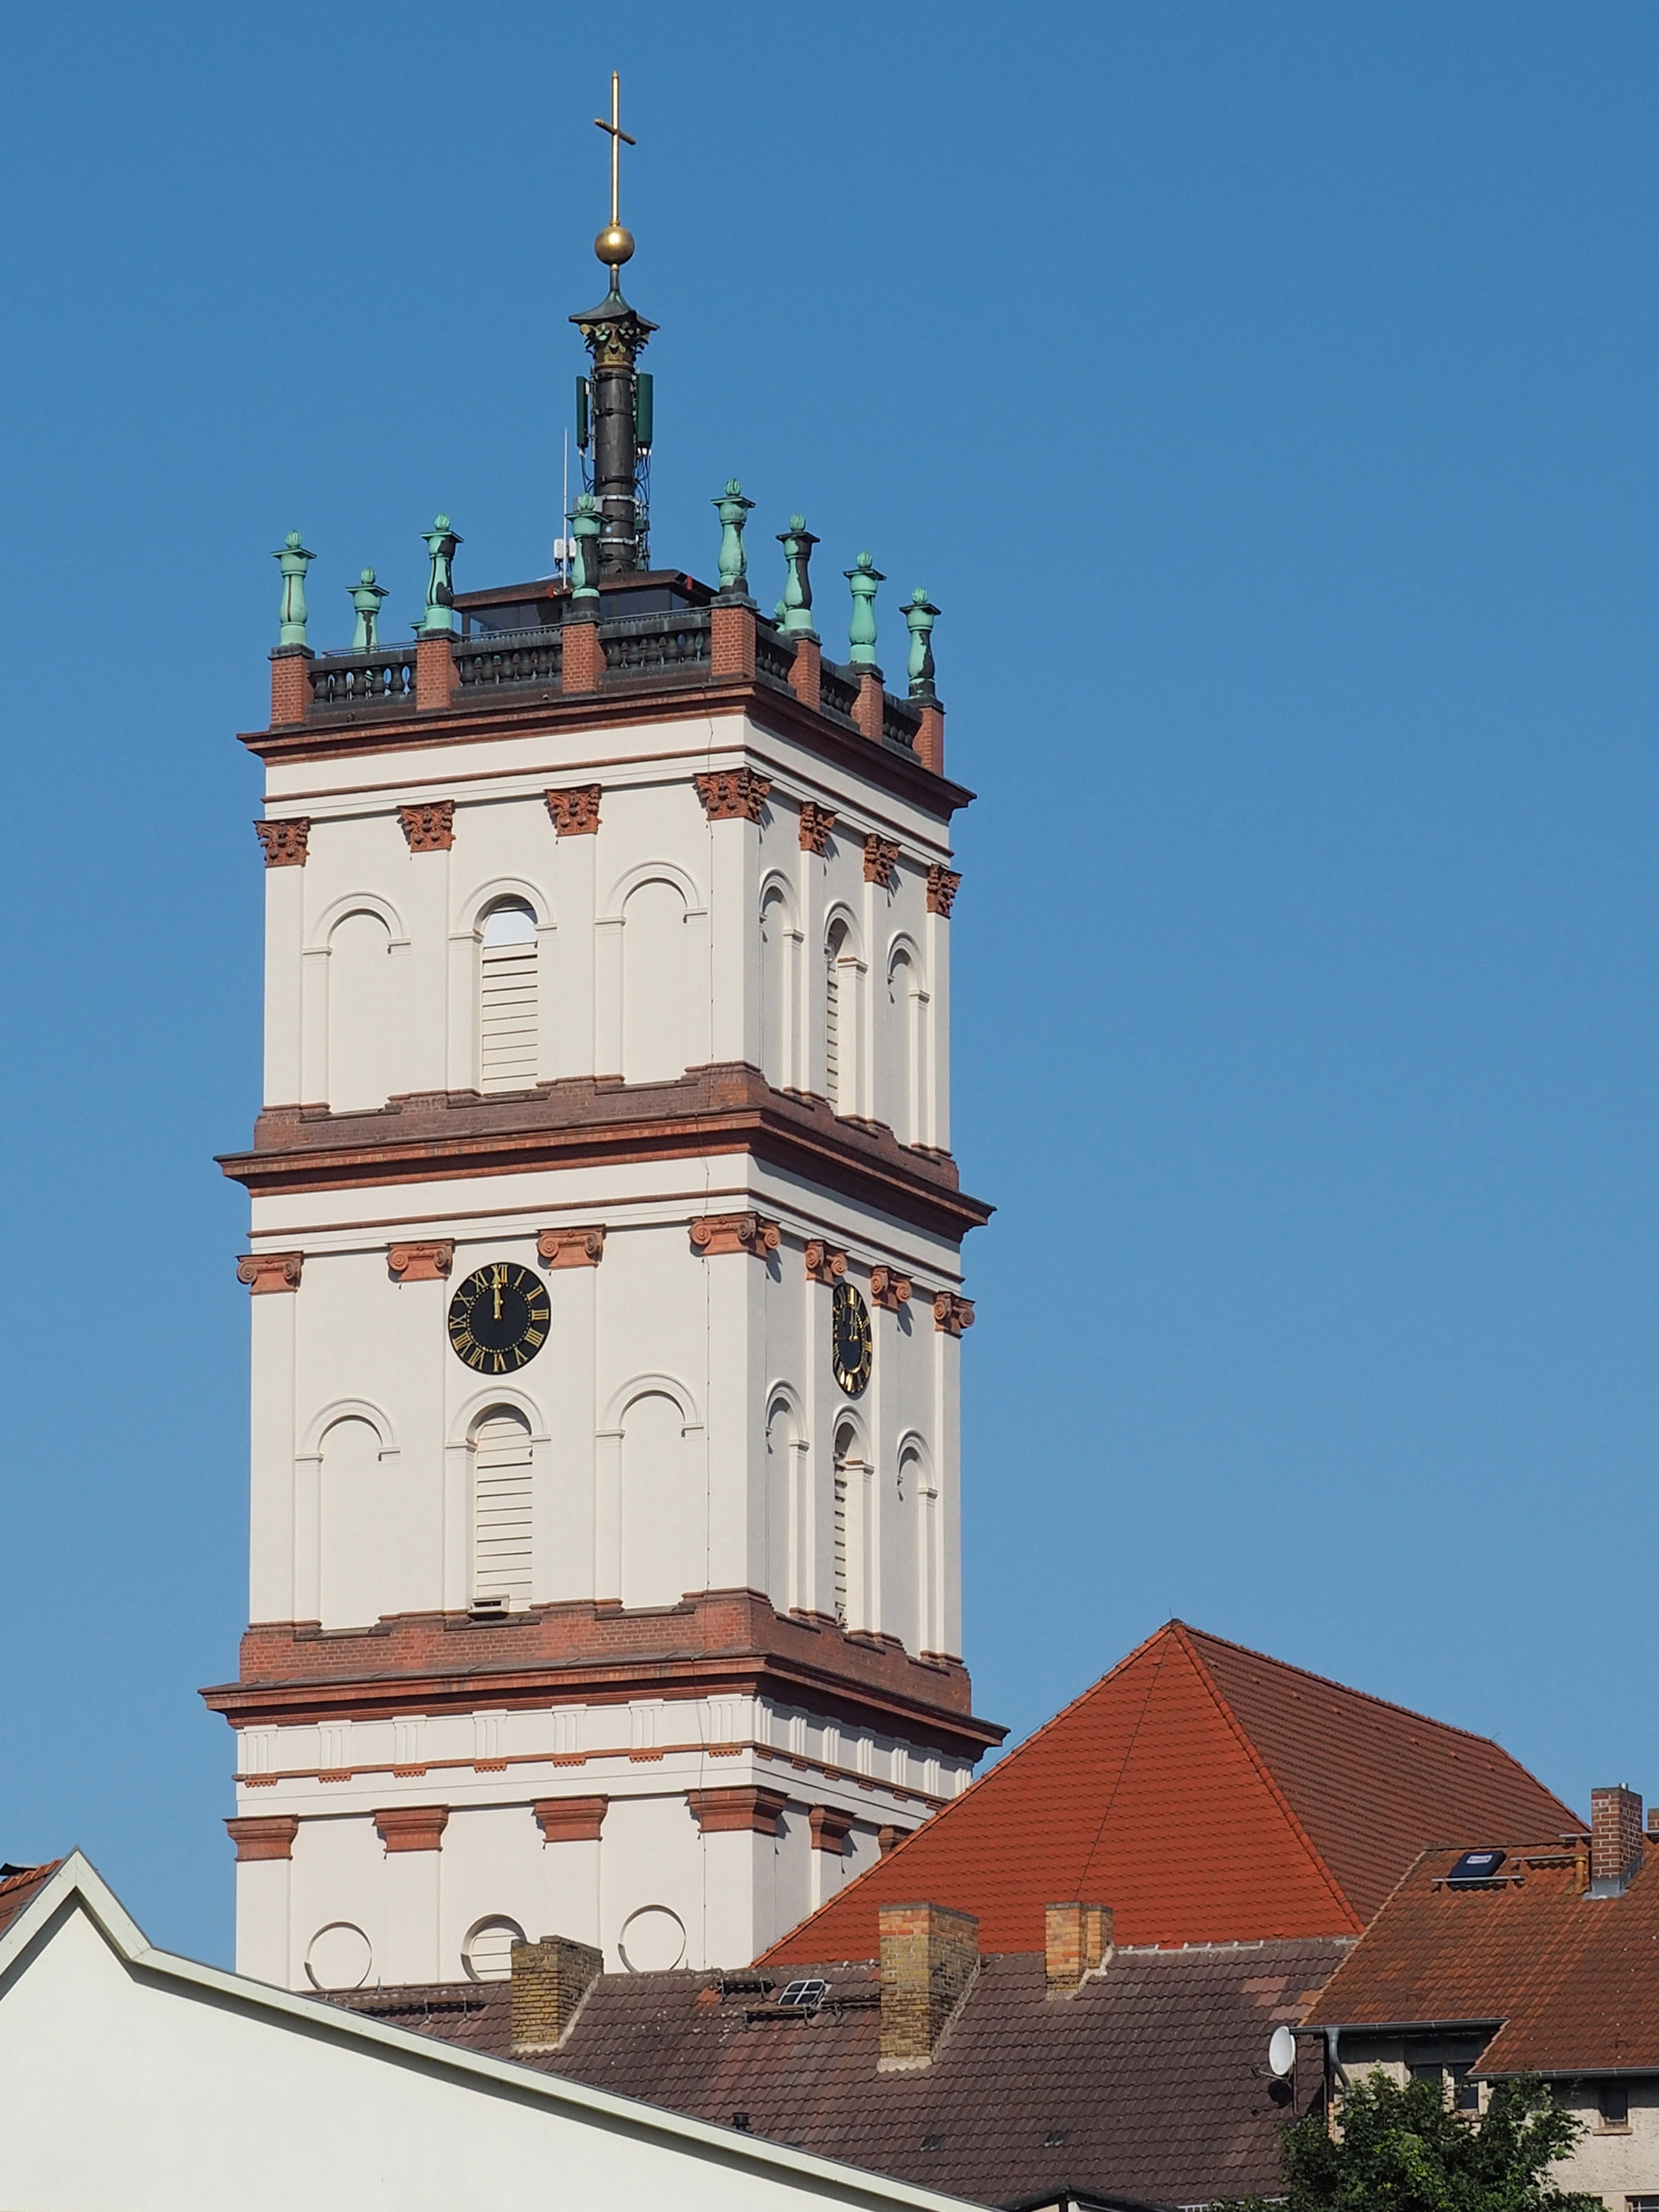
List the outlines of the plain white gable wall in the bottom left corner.
{"label": "plain white gable wall in the bottom left corner", "polygon": [[0,1980],[0,2203],[449,2212],[546,2194],[549,2174],[573,2205],[949,2203],[150,1962],[135,1973],[66,1907]]}

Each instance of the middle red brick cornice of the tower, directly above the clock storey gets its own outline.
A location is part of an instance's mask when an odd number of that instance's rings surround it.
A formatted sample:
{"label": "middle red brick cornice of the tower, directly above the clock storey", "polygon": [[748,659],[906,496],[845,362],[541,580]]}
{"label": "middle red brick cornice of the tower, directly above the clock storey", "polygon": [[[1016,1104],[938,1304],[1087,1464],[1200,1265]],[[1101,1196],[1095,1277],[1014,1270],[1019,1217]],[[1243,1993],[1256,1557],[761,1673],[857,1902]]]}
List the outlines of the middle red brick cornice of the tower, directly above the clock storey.
{"label": "middle red brick cornice of the tower, directly above the clock storey", "polygon": [[223,1155],[219,1166],[268,1197],[710,1152],[750,1152],[951,1241],[991,1219],[984,1201],[958,1188],[949,1155],[902,1146],[880,1124],[845,1121],[821,1099],[774,1091],[741,1062],[692,1068],[668,1084],[566,1077],[531,1099],[438,1091],[361,1115],[272,1106],[254,1124],[252,1152]]}

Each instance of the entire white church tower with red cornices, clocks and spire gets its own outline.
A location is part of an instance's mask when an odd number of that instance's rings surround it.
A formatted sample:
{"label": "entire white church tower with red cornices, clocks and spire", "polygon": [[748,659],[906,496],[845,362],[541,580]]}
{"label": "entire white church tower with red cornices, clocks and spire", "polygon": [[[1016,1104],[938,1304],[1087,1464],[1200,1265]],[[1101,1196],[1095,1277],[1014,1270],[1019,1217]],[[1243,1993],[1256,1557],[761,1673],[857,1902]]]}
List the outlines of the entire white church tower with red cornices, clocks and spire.
{"label": "entire white church tower with red cornices, clocks and spire", "polygon": [[[276,560],[250,1194],[237,1966],[453,1982],[518,1936],[743,1966],[1000,1730],[960,1659],[949,825],[909,681],[816,630],[816,544],[650,564],[653,323],[573,316],[555,577],[349,653]],[[714,531],[710,526],[710,544]]]}

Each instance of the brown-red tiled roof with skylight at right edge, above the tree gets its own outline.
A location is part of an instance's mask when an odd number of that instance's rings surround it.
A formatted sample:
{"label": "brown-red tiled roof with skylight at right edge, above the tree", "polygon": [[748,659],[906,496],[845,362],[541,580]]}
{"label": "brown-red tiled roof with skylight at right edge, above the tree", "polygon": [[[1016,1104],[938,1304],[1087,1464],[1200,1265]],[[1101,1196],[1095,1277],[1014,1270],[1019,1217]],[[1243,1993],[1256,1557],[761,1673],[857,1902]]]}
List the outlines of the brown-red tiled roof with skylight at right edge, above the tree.
{"label": "brown-red tiled roof with skylight at right edge, above the tree", "polygon": [[1312,2024],[1502,2022],[1480,2073],[1659,2070],[1659,1851],[1617,1898],[1586,1896],[1577,1860],[1548,1836],[1509,1845],[1502,1874],[1517,1880],[1491,1889],[1449,1889],[1455,1860],[1422,1854]]}

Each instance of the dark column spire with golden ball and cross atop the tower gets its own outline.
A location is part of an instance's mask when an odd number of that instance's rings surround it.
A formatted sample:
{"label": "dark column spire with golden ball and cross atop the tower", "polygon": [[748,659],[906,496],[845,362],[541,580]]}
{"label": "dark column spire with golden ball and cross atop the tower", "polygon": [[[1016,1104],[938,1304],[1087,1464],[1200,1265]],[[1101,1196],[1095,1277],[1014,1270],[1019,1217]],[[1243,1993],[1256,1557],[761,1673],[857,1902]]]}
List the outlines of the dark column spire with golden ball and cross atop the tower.
{"label": "dark column spire with golden ball and cross atop the tower", "polygon": [[622,221],[622,148],[635,139],[622,128],[622,77],[611,71],[611,122],[593,122],[611,137],[611,221],[593,252],[611,270],[611,290],[597,307],[573,314],[586,338],[593,372],[577,398],[577,445],[593,447],[593,498],[602,515],[599,575],[641,568],[646,562],[650,453],[650,378],[635,363],[655,323],[622,296],[622,265],[633,259],[633,232]]}

